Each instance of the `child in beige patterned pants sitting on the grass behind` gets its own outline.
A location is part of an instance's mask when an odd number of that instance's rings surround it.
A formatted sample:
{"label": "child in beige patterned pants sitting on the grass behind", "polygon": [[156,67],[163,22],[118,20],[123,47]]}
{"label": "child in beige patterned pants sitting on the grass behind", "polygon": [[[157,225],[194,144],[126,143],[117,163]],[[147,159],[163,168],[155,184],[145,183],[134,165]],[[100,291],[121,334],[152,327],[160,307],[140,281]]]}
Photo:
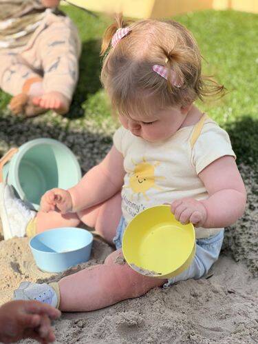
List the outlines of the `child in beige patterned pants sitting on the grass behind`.
{"label": "child in beige patterned pants sitting on the grass behind", "polygon": [[59,0],[0,0],[0,88],[27,117],[69,111],[78,80],[80,40]]}

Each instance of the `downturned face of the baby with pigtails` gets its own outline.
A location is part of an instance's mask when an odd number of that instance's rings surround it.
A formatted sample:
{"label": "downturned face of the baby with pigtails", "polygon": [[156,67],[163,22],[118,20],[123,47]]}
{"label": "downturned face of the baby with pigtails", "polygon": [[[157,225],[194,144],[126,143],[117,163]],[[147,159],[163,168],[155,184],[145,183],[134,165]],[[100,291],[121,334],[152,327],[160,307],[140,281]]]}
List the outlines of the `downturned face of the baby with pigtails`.
{"label": "downturned face of the baby with pigtails", "polygon": [[127,130],[149,142],[169,139],[180,129],[185,118],[180,106],[159,110],[148,117],[119,116],[120,123]]}

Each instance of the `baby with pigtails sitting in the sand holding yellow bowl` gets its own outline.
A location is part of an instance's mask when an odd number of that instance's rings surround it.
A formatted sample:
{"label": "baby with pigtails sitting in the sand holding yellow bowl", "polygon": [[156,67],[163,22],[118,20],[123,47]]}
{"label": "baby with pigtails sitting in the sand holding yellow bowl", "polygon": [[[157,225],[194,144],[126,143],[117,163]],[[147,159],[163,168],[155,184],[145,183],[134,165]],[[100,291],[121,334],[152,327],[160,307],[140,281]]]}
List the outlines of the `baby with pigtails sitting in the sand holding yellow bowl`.
{"label": "baby with pigtails sitting in the sand holding yellow bowl", "polygon": [[[191,33],[175,21],[149,19],[127,26],[118,17],[107,28],[102,53],[101,80],[121,123],[105,159],[74,188],[46,192],[38,214],[26,213],[10,187],[3,198],[10,205],[6,230],[11,233],[14,215],[22,214],[20,232],[16,227],[20,236],[83,221],[116,244],[103,265],[50,285],[21,285],[14,292],[16,299],[43,302],[44,293],[47,298],[53,294],[51,304],[63,311],[97,310],[153,287],[200,279],[219,256],[224,227],[239,219],[246,205],[228,134],[193,104],[222,87],[207,89]],[[171,204],[181,223],[193,223],[197,238],[191,266],[169,281],[142,276],[120,259],[127,223],[162,203]]]}

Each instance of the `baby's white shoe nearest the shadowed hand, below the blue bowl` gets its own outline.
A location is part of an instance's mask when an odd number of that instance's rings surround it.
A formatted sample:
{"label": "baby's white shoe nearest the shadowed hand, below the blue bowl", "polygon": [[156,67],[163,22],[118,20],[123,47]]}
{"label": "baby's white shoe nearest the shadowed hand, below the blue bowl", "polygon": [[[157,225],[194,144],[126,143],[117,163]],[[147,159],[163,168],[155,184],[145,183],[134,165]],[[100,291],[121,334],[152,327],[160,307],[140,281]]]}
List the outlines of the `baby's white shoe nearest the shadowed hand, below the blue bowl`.
{"label": "baby's white shoe nearest the shadowed hand, below the blue bowl", "polygon": [[17,290],[14,290],[14,300],[36,300],[56,307],[58,297],[54,288],[43,283],[22,282]]}

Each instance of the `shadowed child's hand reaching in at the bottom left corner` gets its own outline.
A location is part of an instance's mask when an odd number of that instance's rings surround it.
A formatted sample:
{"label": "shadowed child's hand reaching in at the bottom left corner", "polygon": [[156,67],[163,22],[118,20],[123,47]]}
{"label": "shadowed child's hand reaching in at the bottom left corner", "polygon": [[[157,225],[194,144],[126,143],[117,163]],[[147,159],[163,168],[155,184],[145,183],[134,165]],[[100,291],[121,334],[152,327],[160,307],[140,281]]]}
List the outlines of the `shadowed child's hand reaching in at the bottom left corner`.
{"label": "shadowed child's hand reaching in at the bottom left corner", "polygon": [[39,301],[10,301],[0,307],[0,342],[14,343],[33,338],[51,343],[55,336],[50,319],[61,316],[54,307]]}

